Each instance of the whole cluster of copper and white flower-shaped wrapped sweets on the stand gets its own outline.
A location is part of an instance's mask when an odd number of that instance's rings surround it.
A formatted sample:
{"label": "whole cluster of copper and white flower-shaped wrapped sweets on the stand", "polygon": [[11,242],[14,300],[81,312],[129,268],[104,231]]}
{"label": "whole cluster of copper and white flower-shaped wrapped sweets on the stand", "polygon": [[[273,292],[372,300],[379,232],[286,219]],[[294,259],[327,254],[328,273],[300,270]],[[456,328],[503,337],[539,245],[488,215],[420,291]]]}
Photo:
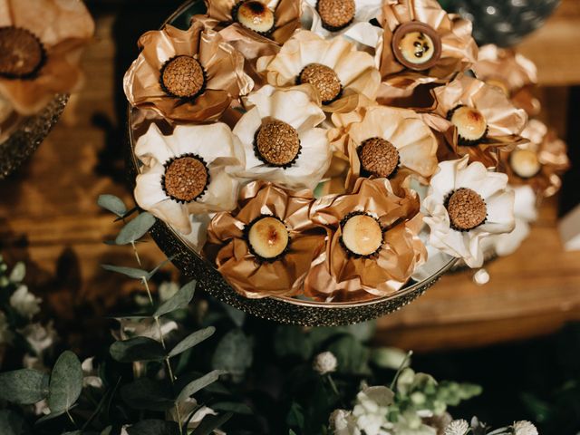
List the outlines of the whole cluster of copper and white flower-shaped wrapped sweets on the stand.
{"label": "whole cluster of copper and white flower-shaped wrapped sweets on the stand", "polygon": [[435,0],[206,6],[125,75],[134,193],[239,294],[358,302],[430,256],[480,267],[526,232],[515,197],[559,187],[534,65]]}

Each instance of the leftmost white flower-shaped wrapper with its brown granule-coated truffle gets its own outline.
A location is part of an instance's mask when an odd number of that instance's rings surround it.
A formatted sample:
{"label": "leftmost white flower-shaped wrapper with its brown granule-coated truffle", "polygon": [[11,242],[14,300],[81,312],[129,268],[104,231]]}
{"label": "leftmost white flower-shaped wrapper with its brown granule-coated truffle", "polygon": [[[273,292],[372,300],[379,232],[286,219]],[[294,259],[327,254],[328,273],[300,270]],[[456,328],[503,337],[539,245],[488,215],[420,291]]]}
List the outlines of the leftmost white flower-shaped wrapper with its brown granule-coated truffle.
{"label": "leftmost white flower-shaped wrapper with its brown granule-coated truffle", "polygon": [[231,174],[245,158],[226,124],[179,125],[169,136],[151,124],[135,154],[145,165],[137,176],[137,203],[180,232],[191,232],[189,214],[236,207],[239,182]]}

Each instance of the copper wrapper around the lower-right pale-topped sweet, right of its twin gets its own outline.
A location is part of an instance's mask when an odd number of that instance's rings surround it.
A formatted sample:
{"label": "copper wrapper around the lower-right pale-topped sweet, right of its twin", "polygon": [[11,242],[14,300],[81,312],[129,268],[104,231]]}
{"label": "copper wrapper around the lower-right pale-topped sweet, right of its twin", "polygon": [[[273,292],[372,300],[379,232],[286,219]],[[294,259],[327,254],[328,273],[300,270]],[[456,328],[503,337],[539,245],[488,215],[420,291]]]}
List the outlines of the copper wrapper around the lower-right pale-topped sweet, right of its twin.
{"label": "copper wrapper around the lower-right pale-topped sweet, right of its twin", "polygon": [[[399,290],[427,257],[418,233],[422,227],[419,198],[405,191],[394,195],[387,179],[359,179],[353,194],[323,197],[314,202],[314,223],[332,228],[330,243],[304,283],[304,294],[327,302],[360,301]],[[341,220],[351,212],[378,218],[384,244],[376,257],[354,258],[341,246]]]}

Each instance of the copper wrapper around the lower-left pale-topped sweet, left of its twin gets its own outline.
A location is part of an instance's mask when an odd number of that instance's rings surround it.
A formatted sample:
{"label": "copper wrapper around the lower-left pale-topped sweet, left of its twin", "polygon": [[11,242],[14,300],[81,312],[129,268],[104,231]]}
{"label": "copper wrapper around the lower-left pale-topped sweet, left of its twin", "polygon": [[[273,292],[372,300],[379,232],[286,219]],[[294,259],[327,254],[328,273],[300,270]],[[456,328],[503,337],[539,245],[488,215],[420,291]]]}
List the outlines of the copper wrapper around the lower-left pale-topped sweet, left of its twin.
{"label": "copper wrapper around the lower-left pale-topped sweet, left of its twin", "polygon": [[[324,252],[326,239],[324,228],[314,226],[308,216],[313,200],[310,190],[289,192],[254,181],[242,189],[237,212],[218,213],[212,219],[207,252],[212,244],[222,246],[215,259],[218,271],[240,295],[259,298],[302,293],[304,278],[314,258]],[[257,262],[244,236],[247,224],[262,215],[283,220],[290,237],[288,251],[273,263]]]}

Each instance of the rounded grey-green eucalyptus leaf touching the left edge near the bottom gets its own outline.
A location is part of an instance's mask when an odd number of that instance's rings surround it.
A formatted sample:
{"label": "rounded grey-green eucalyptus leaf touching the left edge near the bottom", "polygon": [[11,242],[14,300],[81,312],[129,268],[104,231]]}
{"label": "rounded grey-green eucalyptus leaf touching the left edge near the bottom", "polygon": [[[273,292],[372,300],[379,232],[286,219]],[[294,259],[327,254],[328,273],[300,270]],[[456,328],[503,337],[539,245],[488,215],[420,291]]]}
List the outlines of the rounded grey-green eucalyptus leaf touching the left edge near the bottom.
{"label": "rounded grey-green eucalyptus leaf touching the left edge near the bottom", "polygon": [[48,375],[33,369],[0,373],[0,399],[32,405],[48,395]]}

